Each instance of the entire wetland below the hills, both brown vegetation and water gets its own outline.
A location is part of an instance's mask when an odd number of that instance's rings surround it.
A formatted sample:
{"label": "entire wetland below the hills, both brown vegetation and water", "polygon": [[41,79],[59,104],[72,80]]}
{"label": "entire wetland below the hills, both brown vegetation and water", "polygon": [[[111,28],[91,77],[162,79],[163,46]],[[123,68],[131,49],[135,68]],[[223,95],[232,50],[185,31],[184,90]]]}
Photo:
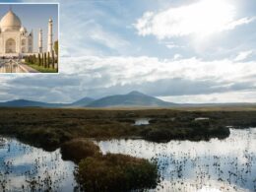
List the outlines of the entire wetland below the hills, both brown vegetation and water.
{"label": "entire wetland below the hills, both brown vegetation and water", "polygon": [[1,108],[0,188],[255,191],[255,118],[254,110]]}

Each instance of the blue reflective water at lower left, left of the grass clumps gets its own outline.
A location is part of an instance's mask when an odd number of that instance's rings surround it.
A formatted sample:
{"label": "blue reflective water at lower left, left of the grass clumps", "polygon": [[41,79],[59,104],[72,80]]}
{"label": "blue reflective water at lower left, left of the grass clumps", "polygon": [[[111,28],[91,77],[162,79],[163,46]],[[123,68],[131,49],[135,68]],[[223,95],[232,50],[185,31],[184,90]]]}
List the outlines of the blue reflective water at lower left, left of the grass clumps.
{"label": "blue reflective water at lower left, left of the grass clumps", "polygon": [[74,166],[59,150],[48,153],[0,137],[0,191],[73,191]]}

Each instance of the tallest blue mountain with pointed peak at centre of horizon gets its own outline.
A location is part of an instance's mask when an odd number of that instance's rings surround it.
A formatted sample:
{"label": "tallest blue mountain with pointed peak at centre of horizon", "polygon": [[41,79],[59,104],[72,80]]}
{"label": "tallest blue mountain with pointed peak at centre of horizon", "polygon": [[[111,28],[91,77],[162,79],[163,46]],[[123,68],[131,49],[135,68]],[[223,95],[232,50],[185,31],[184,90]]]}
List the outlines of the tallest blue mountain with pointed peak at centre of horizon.
{"label": "tallest blue mountain with pointed peak at centre of horizon", "polygon": [[177,105],[172,102],[166,102],[154,96],[147,96],[139,92],[131,92],[127,95],[115,95],[115,96],[105,96],[99,98],[87,107],[117,107],[117,106],[149,106],[149,107],[159,107],[159,106],[174,106]]}

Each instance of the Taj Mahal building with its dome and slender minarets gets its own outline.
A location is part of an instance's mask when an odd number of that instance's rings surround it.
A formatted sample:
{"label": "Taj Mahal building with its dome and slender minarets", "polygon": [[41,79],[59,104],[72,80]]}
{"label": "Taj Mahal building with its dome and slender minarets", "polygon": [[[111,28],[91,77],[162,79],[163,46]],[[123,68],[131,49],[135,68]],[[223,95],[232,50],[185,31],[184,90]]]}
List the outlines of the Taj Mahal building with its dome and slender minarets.
{"label": "Taj Mahal building with its dome and slender minarets", "polygon": [[[52,20],[48,21],[47,51],[52,52]],[[37,51],[33,50],[33,32],[28,32],[20,18],[10,10],[0,22],[0,56],[25,56],[42,53],[42,30],[38,31]]]}

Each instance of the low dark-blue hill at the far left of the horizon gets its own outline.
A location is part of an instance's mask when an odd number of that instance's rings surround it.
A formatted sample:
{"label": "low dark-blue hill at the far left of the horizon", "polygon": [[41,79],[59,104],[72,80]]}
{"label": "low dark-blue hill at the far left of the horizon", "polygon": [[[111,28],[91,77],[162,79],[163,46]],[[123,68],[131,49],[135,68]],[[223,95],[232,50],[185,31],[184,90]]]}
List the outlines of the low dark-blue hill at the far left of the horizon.
{"label": "low dark-blue hill at the far left of the horizon", "polygon": [[47,102],[39,102],[33,100],[26,99],[16,99],[10,100],[6,102],[0,102],[0,106],[6,107],[60,107],[63,106],[62,103],[47,103]]}

